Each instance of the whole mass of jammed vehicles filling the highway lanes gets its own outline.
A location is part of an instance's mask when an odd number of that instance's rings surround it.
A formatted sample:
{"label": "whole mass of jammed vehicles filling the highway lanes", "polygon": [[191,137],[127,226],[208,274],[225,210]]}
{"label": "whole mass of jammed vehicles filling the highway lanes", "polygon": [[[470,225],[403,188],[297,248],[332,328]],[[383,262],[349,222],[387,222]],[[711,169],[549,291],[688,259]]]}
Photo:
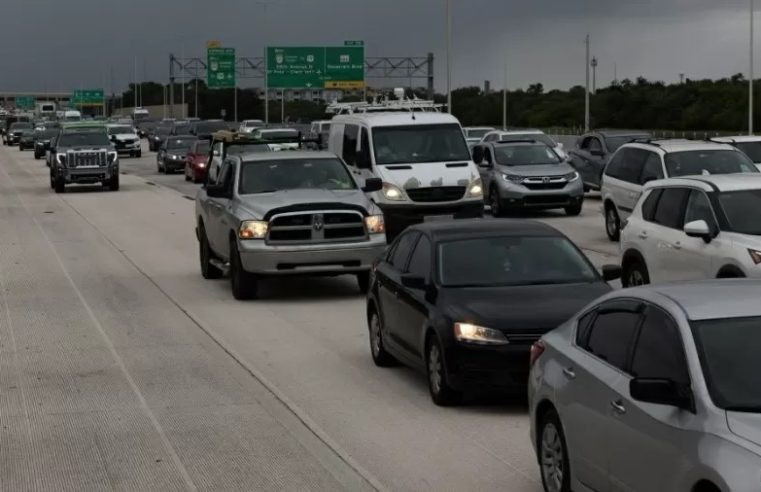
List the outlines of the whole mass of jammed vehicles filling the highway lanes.
{"label": "whole mass of jammed vehicles filling the highway lanes", "polygon": [[[351,277],[379,371],[413,369],[431,405],[528,402],[548,492],[760,490],[761,143],[596,131],[569,148],[445,109],[333,103],[308,130],[5,112],[0,131],[54,193],[118,191],[146,149],[198,185],[200,275],[235,300]],[[596,266],[547,210],[570,227],[599,210],[618,261]]]}

